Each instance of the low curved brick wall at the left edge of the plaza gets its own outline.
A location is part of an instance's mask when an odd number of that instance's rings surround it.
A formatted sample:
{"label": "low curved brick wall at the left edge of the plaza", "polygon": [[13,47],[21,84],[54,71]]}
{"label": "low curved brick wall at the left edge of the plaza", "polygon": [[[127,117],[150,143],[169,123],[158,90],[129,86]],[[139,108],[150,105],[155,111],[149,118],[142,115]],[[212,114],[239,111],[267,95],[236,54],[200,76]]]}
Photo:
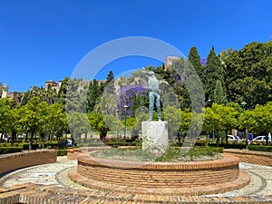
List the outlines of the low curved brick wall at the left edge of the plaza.
{"label": "low curved brick wall at the left edge of the plaza", "polygon": [[56,162],[54,150],[25,151],[0,155],[0,174],[25,167]]}

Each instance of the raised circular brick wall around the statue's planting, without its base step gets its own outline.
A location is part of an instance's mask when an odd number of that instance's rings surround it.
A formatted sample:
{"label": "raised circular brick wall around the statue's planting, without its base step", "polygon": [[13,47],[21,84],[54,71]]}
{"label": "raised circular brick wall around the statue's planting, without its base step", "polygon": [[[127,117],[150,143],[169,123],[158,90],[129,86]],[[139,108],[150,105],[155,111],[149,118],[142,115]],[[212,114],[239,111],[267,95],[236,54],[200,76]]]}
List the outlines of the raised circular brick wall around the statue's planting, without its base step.
{"label": "raised circular brick wall around the statue's planting, without its base step", "polygon": [[106,160],[89,154],[78,155],[77,173],[116,185],[184,188],[229,182],[239,176],[238,158],[228,154],[222,160],[179,163]]}

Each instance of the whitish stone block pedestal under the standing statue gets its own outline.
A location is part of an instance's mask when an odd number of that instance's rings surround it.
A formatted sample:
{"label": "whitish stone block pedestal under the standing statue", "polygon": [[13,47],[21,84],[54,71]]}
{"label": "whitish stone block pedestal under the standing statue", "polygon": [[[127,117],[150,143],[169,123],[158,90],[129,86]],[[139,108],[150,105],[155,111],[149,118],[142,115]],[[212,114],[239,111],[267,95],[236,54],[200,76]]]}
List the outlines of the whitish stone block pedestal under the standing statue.
{"label": "whitish stone block pedestal under the standing statue", "polygon": [[168,149],[168,122],[142,121],[142,151],[151,151],[155,154],[163,153]]}

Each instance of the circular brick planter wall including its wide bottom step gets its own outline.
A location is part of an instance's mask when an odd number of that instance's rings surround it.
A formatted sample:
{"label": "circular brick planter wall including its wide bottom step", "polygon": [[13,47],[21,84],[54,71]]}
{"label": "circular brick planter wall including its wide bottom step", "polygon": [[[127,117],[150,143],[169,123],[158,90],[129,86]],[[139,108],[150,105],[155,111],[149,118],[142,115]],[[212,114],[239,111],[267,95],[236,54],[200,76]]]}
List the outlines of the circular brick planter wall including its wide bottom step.
{"label": "circular brick planter wall including its wide bottom step", "polygon": [[69,176],[92,189],[157,195],[210,194],[248,185],[250,178],[239,170],[238,158],[223,156],[209,161],[141,162],[94,158],[85,151],[77,156],[77,169]]}

